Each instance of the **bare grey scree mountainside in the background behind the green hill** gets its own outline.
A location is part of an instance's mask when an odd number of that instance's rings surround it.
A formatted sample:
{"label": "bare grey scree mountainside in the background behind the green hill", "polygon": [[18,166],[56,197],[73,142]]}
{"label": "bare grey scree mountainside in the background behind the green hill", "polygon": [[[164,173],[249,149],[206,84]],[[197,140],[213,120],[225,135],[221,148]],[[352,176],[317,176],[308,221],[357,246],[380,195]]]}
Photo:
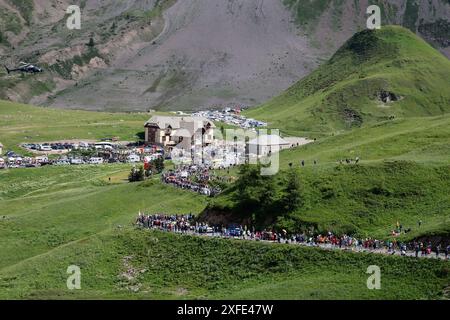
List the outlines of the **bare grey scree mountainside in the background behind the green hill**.
{"label": "bare grey scree mountainside in the background behind the green hill", "polygon": [[[24,60],[46,70],[53,66],[41,80],[59,84],[48,86],[55,99],[36,103],[124,111],[264,102],[364,29],[370,1],[123,0],[112,5],[87,0],[81,2],[81,30],[70,33],[65,9],[71,1],[30,0],[28,11],[15,3],[0,0],[0,12],[14,22],[2,33],[0,55],[8,57],[8,65]],[[152,14],[156,3],[167,4],[163,14]],[[450,57],[448,0],[378,3],[387,15],[383,25],[407,26]],[[107,67],[88,66],[90,37]],[[79,57],[82,64],[72,61]],[[89,85],[75,86],[81,81]],[[28,90],[12,82],[4,87],[9,96],[30,102],[31,86],[21,84]],[[88,98],[93,93],[95,101]],[[2,97],[6,89],[0,88]]]}

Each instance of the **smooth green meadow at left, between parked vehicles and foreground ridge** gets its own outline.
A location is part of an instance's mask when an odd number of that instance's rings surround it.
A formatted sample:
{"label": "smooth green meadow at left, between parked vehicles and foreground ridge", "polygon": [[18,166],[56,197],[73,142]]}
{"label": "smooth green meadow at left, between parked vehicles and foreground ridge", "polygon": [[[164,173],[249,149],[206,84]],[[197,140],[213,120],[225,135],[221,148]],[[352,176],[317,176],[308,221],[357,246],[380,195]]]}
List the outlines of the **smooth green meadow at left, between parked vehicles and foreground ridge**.
{"label": "smooth green meadow at left, between parked vehicles and foreground ridge", "polygon": [[[205,198],[162,185],[130,184],[131,165],[0,170],[0,268],[129,225],[139,210],[197,213]],[[111,177],[111,183],[108,178]]]}

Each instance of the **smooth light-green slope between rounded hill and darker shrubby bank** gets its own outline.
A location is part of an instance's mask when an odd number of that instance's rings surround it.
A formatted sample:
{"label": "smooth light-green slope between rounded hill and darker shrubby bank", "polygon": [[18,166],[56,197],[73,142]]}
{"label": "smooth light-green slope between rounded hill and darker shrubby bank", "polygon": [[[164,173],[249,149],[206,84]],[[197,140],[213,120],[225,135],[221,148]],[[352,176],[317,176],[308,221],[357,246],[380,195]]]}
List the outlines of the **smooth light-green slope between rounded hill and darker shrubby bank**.
{"label": "smooth light-green slope between rounded hill and darker shrubby bank", "polygon": [[383,121],[341,134],[319,138],[301,148],[281,152],[280,164],[334,166],[339,160],[359,157],[361,163],[385,160],[415,161],[427,165],[450,163],[450,114]]}

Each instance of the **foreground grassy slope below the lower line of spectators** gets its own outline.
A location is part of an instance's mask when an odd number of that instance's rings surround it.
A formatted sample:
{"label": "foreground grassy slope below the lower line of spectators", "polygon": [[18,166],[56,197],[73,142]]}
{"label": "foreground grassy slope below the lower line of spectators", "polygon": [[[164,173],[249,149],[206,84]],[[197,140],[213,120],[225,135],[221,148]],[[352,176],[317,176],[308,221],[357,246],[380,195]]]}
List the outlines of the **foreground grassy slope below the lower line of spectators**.
{"label": "foreground grassy slope below the lower line of spectators", "polygon": [[[68,265],[81,267],[69,291]],[[369,265],[382,290],[368,290]],[[448,263],[114,228],[0,269],[0,297],[28,299],[436,299]]]}

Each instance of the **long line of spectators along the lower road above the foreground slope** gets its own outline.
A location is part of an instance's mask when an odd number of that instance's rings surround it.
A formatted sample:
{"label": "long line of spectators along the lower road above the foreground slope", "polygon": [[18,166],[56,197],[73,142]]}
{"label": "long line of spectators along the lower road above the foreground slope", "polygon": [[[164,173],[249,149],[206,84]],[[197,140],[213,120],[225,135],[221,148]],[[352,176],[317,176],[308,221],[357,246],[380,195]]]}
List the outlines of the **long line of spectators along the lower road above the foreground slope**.
{"label": "long line of spectators along the lower road above the foreground slope", "polygon": [[400,242],[390,240],[377,240],[373,238],[358,239],[349,235],[338,236],[332,232],[326,235],[312,235],[298,233],[288,235],[285,230],[282,232],[255,231],[246,227],[232,225],[225,228],[223,226],[209,226],[207,223],[195,222],[192,214],[168,215],[153,214],[145,215],[139,213],[136,225],[142,228],[157,229],[161,231],[190,234],[208,235],[220,238],[235,238],[253,241],[269,241],[285,244],[297,244],[304,246],[321,247],[324,249],[340,249],[354,252],[371,252],[390,255],[413,256],[413,257],[435,257],[449,259],[450,245],[432,245],[431,242]]}

